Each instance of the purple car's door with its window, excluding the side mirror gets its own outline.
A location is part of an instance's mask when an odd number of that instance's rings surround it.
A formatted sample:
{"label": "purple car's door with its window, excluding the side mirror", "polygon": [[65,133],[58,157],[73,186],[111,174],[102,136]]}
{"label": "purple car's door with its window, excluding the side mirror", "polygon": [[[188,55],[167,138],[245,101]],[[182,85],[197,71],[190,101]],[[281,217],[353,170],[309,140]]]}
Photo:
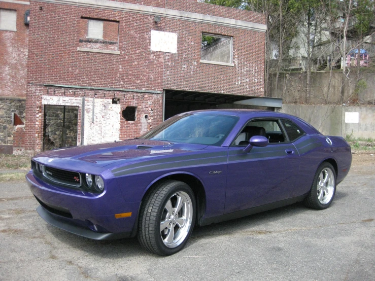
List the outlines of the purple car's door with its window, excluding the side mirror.
{"label": "purple car's door with its window, excluding the side mirror", "polygon": [[288,199],[294,190],[300,158],[281,121],[251,120],[238,136],[249,126],[264,128],[269,144],[249,153],[244,142],[229,147],[225,214]]}

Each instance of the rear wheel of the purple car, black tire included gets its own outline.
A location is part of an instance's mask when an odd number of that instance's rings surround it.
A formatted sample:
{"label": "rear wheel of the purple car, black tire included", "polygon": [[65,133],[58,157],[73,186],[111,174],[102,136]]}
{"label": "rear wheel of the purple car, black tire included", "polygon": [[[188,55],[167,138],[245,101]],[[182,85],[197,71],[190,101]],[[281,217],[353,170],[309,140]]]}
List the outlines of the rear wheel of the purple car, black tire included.
{"label": "rear wheel of the purple car, black tire included", "polygon": [[335,170],[330,163],[323,162],[318,167],[310,193],[303,202],[314,209],[326,209],[332,203],[335,192]]}

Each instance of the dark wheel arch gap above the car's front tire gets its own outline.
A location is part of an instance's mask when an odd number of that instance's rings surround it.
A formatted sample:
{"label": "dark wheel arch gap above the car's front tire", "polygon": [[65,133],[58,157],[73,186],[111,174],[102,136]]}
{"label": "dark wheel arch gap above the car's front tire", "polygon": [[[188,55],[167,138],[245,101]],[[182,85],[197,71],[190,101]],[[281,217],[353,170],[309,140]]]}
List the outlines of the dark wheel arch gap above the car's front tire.
{"label": "dark wheel arch gap above the car's front tire", "polygon": [[196,175],[192,173],[179,171],[179,172],[164,174],[161,177],[155,179],[147,187],[145,193],[143,194],[142,203],[148,193],[150,193],[156,186],[158,186],[160,182],[163,182],[166,180],[180,181],[180,182],[187,184],[191,188],[191,190],[193,191],[195,195],[195,201],[196,201],[196,207],[197,207],[195,223],[199,224],[200,218],[202,218],[204,213],[206,213],[206,191],[204,190],[202,181]]}

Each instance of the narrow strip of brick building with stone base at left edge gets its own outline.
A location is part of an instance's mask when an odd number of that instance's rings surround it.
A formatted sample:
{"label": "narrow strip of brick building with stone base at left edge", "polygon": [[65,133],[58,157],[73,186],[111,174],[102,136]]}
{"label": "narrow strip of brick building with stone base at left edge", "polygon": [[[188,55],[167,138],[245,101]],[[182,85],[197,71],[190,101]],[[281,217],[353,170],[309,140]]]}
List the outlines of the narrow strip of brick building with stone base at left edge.
{"label": "narrow strip of brick building with stone base at left edge", "polygon": [[24,145],[29,9],[28,1],[0,0],[0,153]]}

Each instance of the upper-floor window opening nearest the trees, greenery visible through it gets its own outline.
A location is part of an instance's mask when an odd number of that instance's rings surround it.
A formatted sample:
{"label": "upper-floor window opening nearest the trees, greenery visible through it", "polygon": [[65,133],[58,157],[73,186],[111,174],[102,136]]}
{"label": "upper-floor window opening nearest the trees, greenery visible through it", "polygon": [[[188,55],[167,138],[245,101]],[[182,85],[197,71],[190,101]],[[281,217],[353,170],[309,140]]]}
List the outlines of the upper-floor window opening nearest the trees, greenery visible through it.
{"label": "upper-floor window opening nearest the trees, greenery visible through it", "polygon": [[232,65],[232,37],[202,33],[200,62]]}

